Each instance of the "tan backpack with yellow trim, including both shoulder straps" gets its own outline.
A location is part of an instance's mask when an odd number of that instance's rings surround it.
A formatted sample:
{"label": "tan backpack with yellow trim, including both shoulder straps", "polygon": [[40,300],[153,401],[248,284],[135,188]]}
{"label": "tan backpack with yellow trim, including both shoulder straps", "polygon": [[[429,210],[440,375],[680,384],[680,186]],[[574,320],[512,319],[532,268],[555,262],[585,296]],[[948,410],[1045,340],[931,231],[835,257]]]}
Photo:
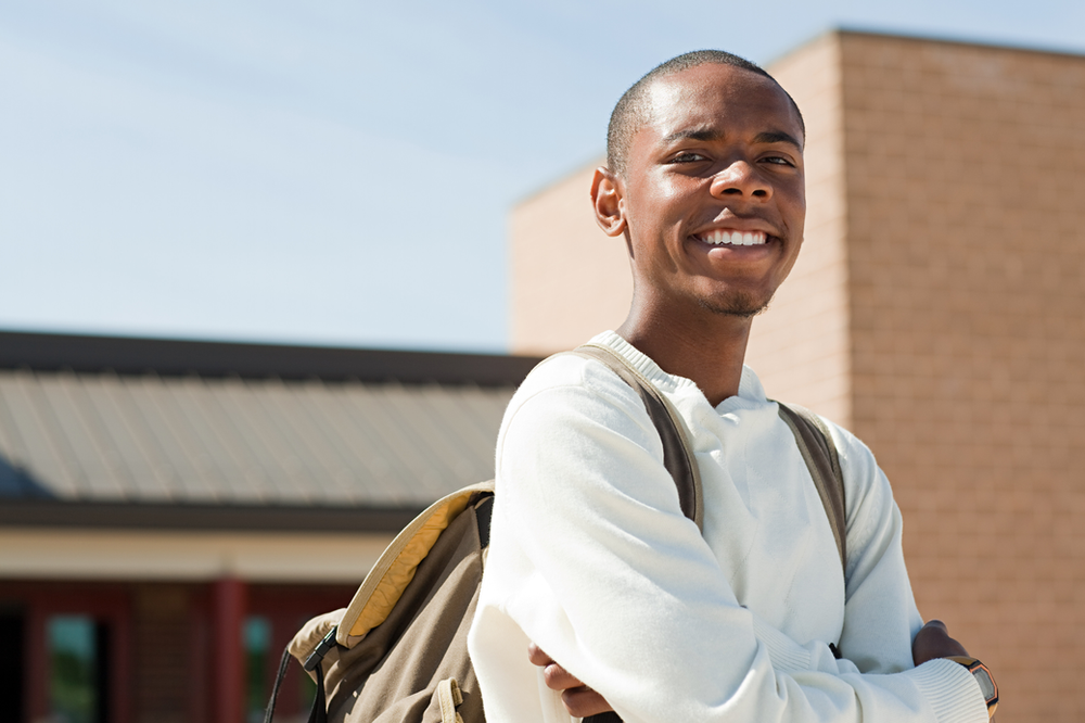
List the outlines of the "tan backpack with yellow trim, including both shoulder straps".
{"label": "tan backpack with yellow trim, including both shoulder straps", "polygon": [[[663,442],[664,466],[678,487],[682,511],[701,528],[700,474],[671,403],[605,346],[586,344],[566,353],[602,362],[640,395]],[[801,407],[779,407],[814,478],[846,569],[844,487],[835,447],[817,416]],[[467,634],[478,601],[493,504],[493,481],[463,487],[396,535],[350,604],[314,618],[291,640],[265,723],[272,721],[291,656],[317,682],[309,723],[484,723]],[[618,720],[614,713],[586,719]]]}

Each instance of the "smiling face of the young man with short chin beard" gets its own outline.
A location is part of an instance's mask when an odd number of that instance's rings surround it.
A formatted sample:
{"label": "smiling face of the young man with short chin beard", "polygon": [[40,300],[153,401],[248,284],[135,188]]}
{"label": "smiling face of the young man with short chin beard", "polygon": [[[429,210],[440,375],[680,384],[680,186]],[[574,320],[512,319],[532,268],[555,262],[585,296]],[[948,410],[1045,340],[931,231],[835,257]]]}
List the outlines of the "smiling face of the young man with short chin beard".
{"label": "smiling face of the young man with short chin beard", "polygon": [[637,293],[667,313],[752,316],[795,263],[803,131],[770,79],[700,65],[655,81],[616,179]]}

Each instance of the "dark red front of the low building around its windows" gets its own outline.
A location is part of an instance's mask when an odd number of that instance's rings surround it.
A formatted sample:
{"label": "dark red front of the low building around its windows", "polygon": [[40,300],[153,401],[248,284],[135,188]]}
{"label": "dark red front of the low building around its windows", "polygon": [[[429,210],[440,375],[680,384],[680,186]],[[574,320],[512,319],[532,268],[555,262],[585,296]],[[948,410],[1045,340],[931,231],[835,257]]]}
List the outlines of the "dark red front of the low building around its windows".
{"label": "dark red front of the low building around its windows", "polygon": [[[360,582],[360,581],[359,581]],[[244,620],[270,623],[264,690],[279,655],[309,617],[346,606],[353,585],[0,581],[0,602],[21,611],[24,723],[50,714],[48,621],[88,616],[107,631],[107,721],[243,723],[247,702]],[[277,719],[302,711],[299,667],[283,685]]]}

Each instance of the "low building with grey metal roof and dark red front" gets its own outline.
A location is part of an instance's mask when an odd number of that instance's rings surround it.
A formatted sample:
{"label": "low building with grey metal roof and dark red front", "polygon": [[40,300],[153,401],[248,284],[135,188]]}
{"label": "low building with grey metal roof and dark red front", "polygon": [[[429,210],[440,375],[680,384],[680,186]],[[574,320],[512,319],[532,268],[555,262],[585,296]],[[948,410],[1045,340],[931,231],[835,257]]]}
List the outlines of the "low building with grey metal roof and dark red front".
{"label": "low building with grey metal roof and dark red front", "polygon": [[301,623],[493,477],[535,362],[0,333],[0,721],[261,721]]}

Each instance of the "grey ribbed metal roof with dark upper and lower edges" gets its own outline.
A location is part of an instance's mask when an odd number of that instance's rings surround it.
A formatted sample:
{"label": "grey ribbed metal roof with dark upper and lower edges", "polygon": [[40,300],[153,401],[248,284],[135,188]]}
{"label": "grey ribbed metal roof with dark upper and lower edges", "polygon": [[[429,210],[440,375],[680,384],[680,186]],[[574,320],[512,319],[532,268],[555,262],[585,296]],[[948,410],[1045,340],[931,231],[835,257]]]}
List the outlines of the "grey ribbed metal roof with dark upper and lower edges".
{"label": "grey ribbed metal roof with dark upper and lower edges", "polygon": [[[31,339],[38,356],[29,358],[5,346],[12,337],[0,333],[0,366],[27,363],[0,368],[5,524],[395,529],[436,497],[493,475],[501,415],[519,369],[535,362],[383,352],[374,363],[360,350],[149,340],[123,340],[107,358],[108,343],[74,337]],[[49,335],[17,337],[25,352],[34,346],[26,338]],[[81,353],[81,370],[42,354],[50,344],[66,345],[76,360]],[[125,345],[127,356],[117,353]],[[168,375],[145,364],[163,345],[183,362],[159,363]],[[332,372],[329,351],[345,353]],[[310,366],[323,358],[324,367],[305,373],[306,352]],[[352,356],[358,368],[383,364],[386,381],[350,379]],[[412,363],[407,381],[387,365],[396,356]],[[454,359],[455,379],[419,381],[442,379],[449,357],[467,357]],[[480,359],[487,385],[463,373]],[[505,369],[507,383],[495,384],[502,359],[518,370]],[[277,366],[294,378],[266,373]]]}

